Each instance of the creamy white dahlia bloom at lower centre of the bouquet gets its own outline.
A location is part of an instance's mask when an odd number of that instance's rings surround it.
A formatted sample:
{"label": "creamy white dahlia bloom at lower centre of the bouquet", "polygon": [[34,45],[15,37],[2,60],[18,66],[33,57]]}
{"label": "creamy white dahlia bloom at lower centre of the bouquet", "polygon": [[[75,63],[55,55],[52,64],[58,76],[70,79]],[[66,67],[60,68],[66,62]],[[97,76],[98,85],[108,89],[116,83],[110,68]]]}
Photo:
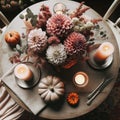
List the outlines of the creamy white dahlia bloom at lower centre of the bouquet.
{"label": "creamy white dahlia bloom at lower centre of the bouquet", "polygon": [[62,44],[55,44],[48,47],[46,51],[48,62],[53,65],[60,65],[65,62],[67,54]]}

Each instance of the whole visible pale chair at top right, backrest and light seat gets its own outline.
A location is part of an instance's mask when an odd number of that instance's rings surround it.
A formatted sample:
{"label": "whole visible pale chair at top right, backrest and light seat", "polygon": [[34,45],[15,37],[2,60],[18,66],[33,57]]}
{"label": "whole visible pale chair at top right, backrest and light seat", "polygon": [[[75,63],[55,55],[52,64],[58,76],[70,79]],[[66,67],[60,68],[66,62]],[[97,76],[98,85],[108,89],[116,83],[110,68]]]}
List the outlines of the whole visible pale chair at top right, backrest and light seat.
{"label": "whole visible pale chair at top right, backrest and light seat", "polygon": [[[103,16],[103,19],[107,22],[109,27],[111,28],[112,32],[115,35],[115,38],[117,40],[118,46],[119,46],[119,54],[120,54],[120,17],[116,20],[116,22],[113,22],[110,20],[110,16],[114,14],[117,7],[120,8],[120,0],[114,0],[112,5],[109,7],[105,15]],[[120,55],[119,55],[120,58]]]}

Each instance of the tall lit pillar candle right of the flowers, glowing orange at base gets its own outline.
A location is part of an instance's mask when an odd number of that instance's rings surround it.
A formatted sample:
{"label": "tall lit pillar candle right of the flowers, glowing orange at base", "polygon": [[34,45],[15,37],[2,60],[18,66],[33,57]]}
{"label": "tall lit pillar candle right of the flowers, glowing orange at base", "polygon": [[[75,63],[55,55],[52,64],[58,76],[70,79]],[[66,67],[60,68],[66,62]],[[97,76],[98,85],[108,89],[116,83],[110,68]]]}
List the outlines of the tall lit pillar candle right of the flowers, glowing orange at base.
{"label": "tall lit pillar candle right of the flowers, glowing orange at base", "polygon": [[96,50],[94,60],[98,63],[104,63],[105,60],[114,52],[114,46],[110,42],[104,42]]}

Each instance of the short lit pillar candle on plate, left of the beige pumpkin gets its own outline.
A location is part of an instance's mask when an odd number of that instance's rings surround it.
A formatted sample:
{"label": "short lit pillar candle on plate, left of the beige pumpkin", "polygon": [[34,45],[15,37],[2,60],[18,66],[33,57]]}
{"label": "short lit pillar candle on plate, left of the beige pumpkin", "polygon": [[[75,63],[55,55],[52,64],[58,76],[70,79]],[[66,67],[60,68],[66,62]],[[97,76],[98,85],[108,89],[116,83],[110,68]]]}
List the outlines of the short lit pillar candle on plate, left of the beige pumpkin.
{"label": "short lit pillar candle on plate, left of the beige pumpkin", "polygon": [[29,81],[33,77],[31,69],[25,64],[19,64],[14,69],[15,76],[24,81]]}

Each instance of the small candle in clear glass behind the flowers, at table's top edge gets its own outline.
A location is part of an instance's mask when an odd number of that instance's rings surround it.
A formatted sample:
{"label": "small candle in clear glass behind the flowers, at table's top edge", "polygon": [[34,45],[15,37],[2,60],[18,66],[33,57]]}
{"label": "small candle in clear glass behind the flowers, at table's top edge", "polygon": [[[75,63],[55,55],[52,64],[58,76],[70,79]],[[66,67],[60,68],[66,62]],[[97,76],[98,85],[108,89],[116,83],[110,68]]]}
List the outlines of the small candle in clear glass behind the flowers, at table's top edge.
{"label": "small candle in clear glass behind the flowers, at table's top edge", "polygon": [[63,3],[56,3],[54,5],[54,12],[56,14],[63,14],[66,12],[66,6]]}

